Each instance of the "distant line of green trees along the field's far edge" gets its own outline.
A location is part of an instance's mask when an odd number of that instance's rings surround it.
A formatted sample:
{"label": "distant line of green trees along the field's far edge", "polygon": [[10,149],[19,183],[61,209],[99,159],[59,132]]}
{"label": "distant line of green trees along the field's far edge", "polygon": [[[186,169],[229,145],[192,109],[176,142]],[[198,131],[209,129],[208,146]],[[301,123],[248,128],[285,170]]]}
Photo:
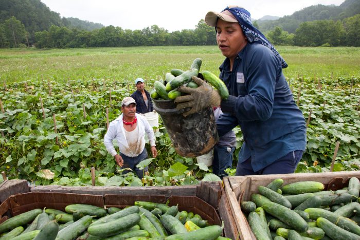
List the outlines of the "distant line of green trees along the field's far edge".
{"label": "distant line of green trees along the field's far edge", "polygon": [[[254,22],[255,26],[258,26]],[[274,45],[287,46],[360,46],[360,14],[342,21],[303,22],[295,33],[277,26],[266,36]],[[28,46],[25,26],[14,16],[0,24],[0,47]],[[37,48],[131,47],[215,45],[215,30],[201,20],[195,29],[168,32],[157,25],[142,30],[107,26],[92,31],[52,25],[34,34]]]}

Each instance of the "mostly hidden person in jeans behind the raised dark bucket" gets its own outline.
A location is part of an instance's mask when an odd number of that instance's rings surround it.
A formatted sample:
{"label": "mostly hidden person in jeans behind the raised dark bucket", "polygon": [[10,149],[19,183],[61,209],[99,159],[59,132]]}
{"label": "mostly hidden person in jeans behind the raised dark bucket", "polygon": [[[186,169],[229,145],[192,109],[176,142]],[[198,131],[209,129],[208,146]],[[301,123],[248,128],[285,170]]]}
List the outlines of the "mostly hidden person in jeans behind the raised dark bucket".
{"label": "mostly hidden person in jeans behind the raised dark bucket", "polygon": [[[213,107],[215,120],[223,113],[220,107]],[[235,151],[236,136],[234,131],[230,131],[219,138],[219,142],[214,146],[214,156],[212,160],[212,173],[220,178],[228,176],[225,169],[232,166],[232,154]]]}

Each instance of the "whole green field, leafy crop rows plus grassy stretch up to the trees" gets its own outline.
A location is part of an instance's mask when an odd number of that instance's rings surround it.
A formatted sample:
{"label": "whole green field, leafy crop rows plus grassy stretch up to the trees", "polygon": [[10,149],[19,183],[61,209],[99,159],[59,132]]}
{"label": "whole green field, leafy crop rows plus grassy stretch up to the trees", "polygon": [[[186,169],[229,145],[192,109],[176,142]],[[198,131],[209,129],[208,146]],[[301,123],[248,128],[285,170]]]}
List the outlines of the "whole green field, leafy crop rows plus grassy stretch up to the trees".
{"label": "whole green field, leafy crop rows plus grassy stretch up to the trees", "polygon": [[[278,47],[284,75],[307,121],[307,149],[296,172],[360,170],[360,48]],[[158,156],[141,162],[150,176],[121,174],[103,137],[121,100],[143,78],[146,89],[172,68],[219,75],[217,46],[0,49],[0,172],[31,184],[171,186],[218,180],[211,167],[176,154],[165,127],[155,132]],[[240,128],[234,155],[242,144]],[[147,144],[147,147],[148,144]],[[0,182],[2,181],[0,176]]]}

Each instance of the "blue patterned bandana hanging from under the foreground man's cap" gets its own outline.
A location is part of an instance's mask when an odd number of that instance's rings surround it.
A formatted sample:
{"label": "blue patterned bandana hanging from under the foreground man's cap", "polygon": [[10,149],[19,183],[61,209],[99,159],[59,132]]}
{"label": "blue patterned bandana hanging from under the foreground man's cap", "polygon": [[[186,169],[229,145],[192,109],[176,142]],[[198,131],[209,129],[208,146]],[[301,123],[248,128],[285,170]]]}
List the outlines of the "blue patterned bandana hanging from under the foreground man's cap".
{"label": "blue patterned bandana hanging from under the foreground man's cap", "polygon": [[235,18],[238,20],[241,29],[243,30],[249,43],[260,42],[262,45],[268,47],[274,52],[275,56],[280,59],[281,67],[287,67],[287,63],[280,56],[279,52],[275,49],[275,47],[265,38],[264,34],[262,34],[256,27],[253,26],[250,19],[250,13],[247,10],[239,7],[226,7],[223,11],[225,10],[231,12],[231,14],[235,16]]}

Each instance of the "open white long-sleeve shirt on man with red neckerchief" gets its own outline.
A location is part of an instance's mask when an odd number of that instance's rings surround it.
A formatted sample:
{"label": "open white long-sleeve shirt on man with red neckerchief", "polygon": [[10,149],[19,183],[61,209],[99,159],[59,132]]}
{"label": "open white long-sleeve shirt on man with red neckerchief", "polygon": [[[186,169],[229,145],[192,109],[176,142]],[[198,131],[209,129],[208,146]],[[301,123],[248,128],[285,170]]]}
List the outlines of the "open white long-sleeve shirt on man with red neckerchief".
{"label": "open white long-sleeve shirt on man with red neckerchief", "polygon": [[[129,147],[128,141],[125,137],[125,128],[122,123],[123,114],[121,114],[117,119],[112,121],[109,124],[109,128],[104,136],[104,144],[107,152],[109,152],[112,156],[118,154],[115,150],[113,140],[119,144],[119,150],[122,154],[125,154],[128,157],[136,157],[139,154],[133,153]],[[155,146],[155,134],[153,128],[150,126],[148,120],[136,114],[137,118],[137,127],[139,128],[138,133],[138,141],[137,141],[137,149],[141,149],[141,151],[137,151],[141,153],[145,148],[145,132],[148,134],[149,142],[151,146]]]}

